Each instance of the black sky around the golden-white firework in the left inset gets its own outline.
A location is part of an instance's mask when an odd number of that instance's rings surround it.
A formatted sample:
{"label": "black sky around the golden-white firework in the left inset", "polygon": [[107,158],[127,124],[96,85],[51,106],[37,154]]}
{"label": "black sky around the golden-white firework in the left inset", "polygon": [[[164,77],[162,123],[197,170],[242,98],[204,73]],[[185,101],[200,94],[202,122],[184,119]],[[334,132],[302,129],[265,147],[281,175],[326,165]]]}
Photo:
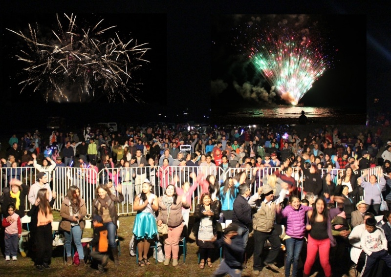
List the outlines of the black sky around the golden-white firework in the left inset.
{"label": "black sky around the golden-white firework in the left inset", "polygon": [[[143,59],[150,63],[140,63],[141,68],[135,72],[133,80],[130,82],[135,85],[137,89],[130,87],[130,92],[134,94],[138,99],[143,100],[146,103],[157,102],[161,105],[166,104],[167,98],[167,17],[166,14],[134,14],[129,16],[128,14],[85,14],[78,13],[76,15],[75,24],[78,28],[74,28],[77,34],[82,33],[82,28],[87,31],[88,28],[92,29],[95,24],[103,19],[97,29],[103,30],[111,26],[116,26],[104,32],[100,37],[100,40],[109,40],[109,38],[116,39],[116,33],[123,43],[127,43],[130,39],[133,42],[137,40],[137,44],[148,43],[143,48],[151,48],[147,50]],[[64,13],[58,14],[60,22],[63,25],[64,31],[68,29],[69,20],[65,18]],[[70,13],[67,13],[68,17],[71,17]],[[44,89],[34,92],[35,85],[27,86],[20,93],[22,85],[18,85],[19,82],[25,80],[28,76],[22,68],[27,66],[26,63],[17,61],[15,55],[21,55],[21,50],[29,52],[28,44],[23,38],[10,32],[7,29],[22,33],[31,38],[29,34],[28,24],[31,24],[37,32],[39,42],[52,45],[58,43],[52,30],[55,31],[60,37],[59,27],[57,24],[57,18],[55,13],[48,14],[25,14],[21,16],[20,13],[7,13],[2,17],[2,64],[6,72],[2,74],[3,87],[9,92],[7,95],[11,101],[15,102],[35,102],[42,103],[42,94]],[[38,25],[38,28],[36,27]],[[90,32],[92,33],[92,32]],[[75,36],[76,38],[76,36]],[[76,39],[77,40],[77,39]],[[131,46],[134,43],[131,42]],[[125,70],[125,66],[122,66]],[[100,93],[102,91],[99,87],[96,89],[94,97],[86,99],[86,102],[108,102],[105,95]],[[75,89],[68,89],[68,96],[71,101],[78,102],[77,92]],[[134,101],[132,97],[127,95],[127,101]],[[72,99],[73,98],[73,99]],[[49,98],[50,101],[51,98]],[[119,98],[120,99],[120,98]]]}

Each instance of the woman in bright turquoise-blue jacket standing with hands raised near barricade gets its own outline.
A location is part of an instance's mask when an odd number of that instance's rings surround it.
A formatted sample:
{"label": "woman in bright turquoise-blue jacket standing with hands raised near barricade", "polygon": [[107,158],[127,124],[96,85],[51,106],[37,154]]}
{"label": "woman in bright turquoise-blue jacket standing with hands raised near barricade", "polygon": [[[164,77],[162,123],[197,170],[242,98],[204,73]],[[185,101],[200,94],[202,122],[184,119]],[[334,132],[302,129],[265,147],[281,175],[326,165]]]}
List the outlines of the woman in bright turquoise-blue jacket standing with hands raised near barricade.
{"label": "woman in bright turquoise-blue jacket standing with hands raised near barricade", "polygon": [[220,188],[219,199],[221,202],[221,212],[224,214],[225,220],[232,220],[234,201],[239,193],[239,185],[239,182],[234,184],[234,179],[232,177],[228,177],[225,179],[223,186]]}

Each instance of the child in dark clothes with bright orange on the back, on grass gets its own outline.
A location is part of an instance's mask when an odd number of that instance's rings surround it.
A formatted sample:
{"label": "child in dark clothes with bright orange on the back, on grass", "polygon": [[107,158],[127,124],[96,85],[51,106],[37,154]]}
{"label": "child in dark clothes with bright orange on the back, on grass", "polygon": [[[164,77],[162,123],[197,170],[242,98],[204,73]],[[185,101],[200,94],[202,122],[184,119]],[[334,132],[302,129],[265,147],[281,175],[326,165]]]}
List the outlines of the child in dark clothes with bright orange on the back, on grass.
{"label": "child in dark clothes with bright orange on the back, on grass", "polygon": [[[98,270],[95,273],[105,273],[105,266],[109,260],[109,255],[107,254],[109,249],[108,232],[106,226],[103,225],[103,219],[100,215],[96,214],[92,217],[92,225],[94,226],[94,237],[90,242],[92,246],[91,257],[99,262]],[[87,247],[89,247],[89,244],[87,244]]]}

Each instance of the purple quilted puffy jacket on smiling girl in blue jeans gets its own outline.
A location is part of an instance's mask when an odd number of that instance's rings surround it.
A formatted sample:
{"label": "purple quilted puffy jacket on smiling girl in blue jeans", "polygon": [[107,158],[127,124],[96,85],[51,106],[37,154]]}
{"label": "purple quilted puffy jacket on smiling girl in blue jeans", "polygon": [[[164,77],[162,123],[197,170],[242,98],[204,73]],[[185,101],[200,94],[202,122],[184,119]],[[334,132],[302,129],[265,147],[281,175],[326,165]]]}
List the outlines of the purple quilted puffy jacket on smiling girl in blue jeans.
{"label": "purple quilted puffy jacket on smiling girl in blue jeans", "polygon": [[286,206],[282,211],[282,216],[286,217],[285,233],[290,237],[303,238],[305,234],[305,216],[311,207],[300,205],[299,210],[295,210],[292,206]]}

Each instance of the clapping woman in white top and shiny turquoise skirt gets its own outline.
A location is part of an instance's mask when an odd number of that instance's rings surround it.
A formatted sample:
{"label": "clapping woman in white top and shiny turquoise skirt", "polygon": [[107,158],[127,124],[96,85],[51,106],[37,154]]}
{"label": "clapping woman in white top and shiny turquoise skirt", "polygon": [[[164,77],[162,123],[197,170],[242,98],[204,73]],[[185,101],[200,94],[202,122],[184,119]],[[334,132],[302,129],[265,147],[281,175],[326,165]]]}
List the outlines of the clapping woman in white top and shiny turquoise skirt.
{"label": "clapping woman in white top and shiny turquoise skirt", "polygon": [[133,224],[133,234],[137,240],[138,265],[150,265],[148,250],[151,240],[157,234],[155,212],[159,209],[157,196],[151,192],[152,185],[146,179],[142,186],[142,192],[136,196],[133,203],[133,210],[137,211]]}

